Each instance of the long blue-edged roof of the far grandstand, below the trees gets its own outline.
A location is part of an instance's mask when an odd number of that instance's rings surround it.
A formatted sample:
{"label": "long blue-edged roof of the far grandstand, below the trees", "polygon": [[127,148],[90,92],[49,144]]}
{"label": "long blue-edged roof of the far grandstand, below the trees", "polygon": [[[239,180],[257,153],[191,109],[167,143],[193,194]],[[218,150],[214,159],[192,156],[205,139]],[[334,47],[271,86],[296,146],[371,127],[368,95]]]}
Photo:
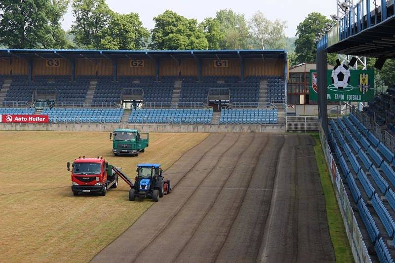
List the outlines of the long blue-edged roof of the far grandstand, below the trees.
{"label": "long blue-edged roof of the far grandstand, below the trees", "polygon": [[94,49],[0,49],[0,57],[31,58],[278,58],[285,50],[94,50]]}

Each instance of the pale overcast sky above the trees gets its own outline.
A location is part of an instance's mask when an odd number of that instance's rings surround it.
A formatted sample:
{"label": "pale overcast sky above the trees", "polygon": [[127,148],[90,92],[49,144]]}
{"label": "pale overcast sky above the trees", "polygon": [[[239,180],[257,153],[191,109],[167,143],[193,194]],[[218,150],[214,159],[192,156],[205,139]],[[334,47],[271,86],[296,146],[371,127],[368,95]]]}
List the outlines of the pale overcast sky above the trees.
{"label": "pale overcast sky above the trees", "polygon": [[[215,16],[223,8],[244,13],[248,20],[261,10],[271,20],[276,18],[288,21],[287,37],[294,37],[297,25],[311,12],[320,12],[329,18],[336,13],[336,0],[106,0],[110,8],[118,13],[135,12],[140,15],[144,26],[154,27],[153,17],[166,9],[175,11],[187,18],[196,18],[201,22],[206,17]],[[69,30],[74,17],[69,8],[64,17],[63,28]]]}

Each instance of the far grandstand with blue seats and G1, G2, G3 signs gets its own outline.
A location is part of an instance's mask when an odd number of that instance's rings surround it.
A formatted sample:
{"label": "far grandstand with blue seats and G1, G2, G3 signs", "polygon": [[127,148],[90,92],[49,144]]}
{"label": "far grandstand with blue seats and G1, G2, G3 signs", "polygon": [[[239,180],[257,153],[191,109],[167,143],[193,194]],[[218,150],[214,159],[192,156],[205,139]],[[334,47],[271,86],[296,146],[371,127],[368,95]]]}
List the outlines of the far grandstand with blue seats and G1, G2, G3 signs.
{"label": "far grandstand with blue seats and G1, G2, G3 signs", "polygon": [[[55,123],[285,123],[283,50],[0,50],[2,113]],[[33,110],[31,110],[33,109]]]}

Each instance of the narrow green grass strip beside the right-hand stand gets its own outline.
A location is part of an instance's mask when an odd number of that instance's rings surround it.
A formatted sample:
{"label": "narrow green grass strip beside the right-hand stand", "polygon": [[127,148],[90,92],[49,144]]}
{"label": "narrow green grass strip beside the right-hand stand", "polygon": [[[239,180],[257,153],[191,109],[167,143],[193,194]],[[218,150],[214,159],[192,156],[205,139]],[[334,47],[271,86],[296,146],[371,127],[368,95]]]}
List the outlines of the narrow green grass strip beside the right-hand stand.
{"label": "narrow green grass strip beside the right-hand stand", "polygon": [[340,214],[335,192],[332,186],[332,182],[330,180],[329,171],[326,166],[325,156],[322,151],[319,135],[314,134],[313,137],[316,139],[316,146],[314,147],[314,151],[316,152],[318,172],[321,178],[321,185],[325,195],[326,215],[328,218],[330,237],[333,243],[333,248],[335,250],[336,262],[354,262],[342,215]]}

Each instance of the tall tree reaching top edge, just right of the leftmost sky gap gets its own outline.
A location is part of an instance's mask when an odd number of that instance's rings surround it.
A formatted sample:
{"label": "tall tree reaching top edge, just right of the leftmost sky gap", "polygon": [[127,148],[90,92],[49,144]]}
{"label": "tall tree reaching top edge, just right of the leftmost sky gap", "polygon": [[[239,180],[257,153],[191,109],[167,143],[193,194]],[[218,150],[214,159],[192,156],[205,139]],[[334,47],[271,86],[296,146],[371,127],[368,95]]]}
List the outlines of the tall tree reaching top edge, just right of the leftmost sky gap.
{"label": "tall tree reaching top edge, just right of the leftmost sky gap", "polygon": [[71,33],[75,43],[84,48],[99,48],[99,32],[108,27],[114,12],[105,0],[74,0],[72,7],[75,21]]}

